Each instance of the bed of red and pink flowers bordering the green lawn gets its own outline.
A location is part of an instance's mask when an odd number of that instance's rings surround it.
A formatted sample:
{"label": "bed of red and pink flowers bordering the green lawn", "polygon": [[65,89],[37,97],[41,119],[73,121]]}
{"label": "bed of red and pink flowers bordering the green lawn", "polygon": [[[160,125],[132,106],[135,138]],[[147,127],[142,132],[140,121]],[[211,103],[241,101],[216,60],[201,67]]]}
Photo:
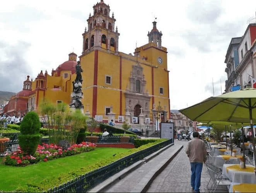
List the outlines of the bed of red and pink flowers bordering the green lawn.
{"label": "bed of red and pink flowers bordering the green lawn", "polygon": [[4,157],[3,163],[11,166],[26,166],[29,164],[37,163],[38,161],[49,161],[52,159],[71,156],[82,152],[92,151],[96,144],[90,142],[82,142],[81,144],[73,144],[68,149],[63,150],[56,144],[38,145],[38,149],[34,156],[28,155],[18,147],[18,151],[8,154]]}

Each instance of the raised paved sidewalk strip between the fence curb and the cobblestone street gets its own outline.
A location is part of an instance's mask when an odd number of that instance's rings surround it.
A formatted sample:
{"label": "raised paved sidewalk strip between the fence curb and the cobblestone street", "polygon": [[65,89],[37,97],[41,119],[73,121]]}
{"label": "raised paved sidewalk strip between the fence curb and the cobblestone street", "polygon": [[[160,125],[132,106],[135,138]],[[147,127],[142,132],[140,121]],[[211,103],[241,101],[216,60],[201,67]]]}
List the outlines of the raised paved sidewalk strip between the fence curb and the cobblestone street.
{"label": "raised paved sidewalk strip between the fence curb and the cobblestone street", "polygon": [[101,192],[141,192],[157,171],[179,150],[174,144]]}

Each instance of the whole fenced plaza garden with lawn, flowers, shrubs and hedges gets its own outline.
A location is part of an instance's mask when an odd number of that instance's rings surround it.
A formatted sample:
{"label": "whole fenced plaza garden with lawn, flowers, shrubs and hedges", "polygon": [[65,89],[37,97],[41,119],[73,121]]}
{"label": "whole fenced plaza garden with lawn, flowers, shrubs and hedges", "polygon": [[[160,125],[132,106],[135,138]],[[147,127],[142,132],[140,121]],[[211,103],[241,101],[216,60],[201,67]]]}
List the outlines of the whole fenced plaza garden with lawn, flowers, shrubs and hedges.
{"label": "whole fenced plaza garden with lawn, flowers, shrubs and hedges", "polygon": [[[40,128],[39,115],[47,127]],[[166,139],[137,139],[128,129],[98,124],[67,105],[41,104],[20,125],[1,127],[0,192],[88,191],[113,174],[171,143]],[[113,136],[102,137],[107,128]],[[97,147],[130,144],[133,148]],[[78,184],[80,186],[78,186]]]}

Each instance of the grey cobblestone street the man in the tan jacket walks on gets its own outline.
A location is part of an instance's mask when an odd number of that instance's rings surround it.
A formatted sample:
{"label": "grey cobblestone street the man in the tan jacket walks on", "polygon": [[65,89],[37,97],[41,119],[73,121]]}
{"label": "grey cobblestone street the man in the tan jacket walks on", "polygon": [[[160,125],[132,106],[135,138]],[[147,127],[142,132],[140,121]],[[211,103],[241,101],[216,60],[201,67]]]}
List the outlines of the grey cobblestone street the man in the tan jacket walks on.
{"label": "grey cobblestone street the man in the tan jacket walks on", "polygon": [[[188,156],[185,153],[188,141],[175,140],[175,144],[183,145],[184,148],[177,154],[171,163],[152,182],[147,192],[194,192],[190,186],[191,169]],[[200,192],[209,192],[207,183],[210,175],[207,167],[203,165],[201,173]],[[222,191],[227,192],[227,191]]]}

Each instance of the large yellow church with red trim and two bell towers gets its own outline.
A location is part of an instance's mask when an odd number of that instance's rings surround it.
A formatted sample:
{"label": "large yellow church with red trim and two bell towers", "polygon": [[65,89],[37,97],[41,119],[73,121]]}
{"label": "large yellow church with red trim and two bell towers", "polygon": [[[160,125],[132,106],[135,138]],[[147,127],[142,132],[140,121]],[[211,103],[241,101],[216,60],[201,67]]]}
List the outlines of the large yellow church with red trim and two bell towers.
{"label": "large yellow church with red trim and two bell towers", "polygon": [[[161,115],[162,121],[169,120],[167,49],[162,46],[157,22],[153,22],[147,34],[148,43],[137,47],[134,54],[125,54],[118,50],[120,34],[115,28],[114,14],[109,16],[109,5],[101,0],[93,10],[82,34],[83,50],[79,56],[83,69],[84,112],[94,118],[100,116],[105,122],[108,122],[109,113],[118,122],[118,116],[125,116],[127,112],[131,117],[143,114],[151,123],[155,123],[156,113]],[[76,64],[77,55],[72,52],[68,61],[51,74],[41,71],[34,81],[31,80],[28,110],[38,109],[43,98],[69,104]]]}

